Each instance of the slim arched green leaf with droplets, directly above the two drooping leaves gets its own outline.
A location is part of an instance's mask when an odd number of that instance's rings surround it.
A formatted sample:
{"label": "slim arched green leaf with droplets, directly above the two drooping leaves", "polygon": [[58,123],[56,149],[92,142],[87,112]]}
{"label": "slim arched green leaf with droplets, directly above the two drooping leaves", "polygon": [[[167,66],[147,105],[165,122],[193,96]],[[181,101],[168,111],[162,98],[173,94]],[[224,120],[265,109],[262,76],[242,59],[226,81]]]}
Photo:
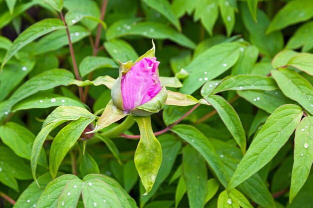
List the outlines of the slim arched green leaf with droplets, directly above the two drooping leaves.
{"label": "slim arched green leaf with droplets, directly above the two drooping leaves", "polygon": [[12,112],[14,113],[19,110],[32,108],[49,108],[52,106],[76,106],[85,108],[81,102],[68,97],[62,97],[60,95],[50,93],[36,93],[35,95],[29,96],[16,103],[12,107]]}

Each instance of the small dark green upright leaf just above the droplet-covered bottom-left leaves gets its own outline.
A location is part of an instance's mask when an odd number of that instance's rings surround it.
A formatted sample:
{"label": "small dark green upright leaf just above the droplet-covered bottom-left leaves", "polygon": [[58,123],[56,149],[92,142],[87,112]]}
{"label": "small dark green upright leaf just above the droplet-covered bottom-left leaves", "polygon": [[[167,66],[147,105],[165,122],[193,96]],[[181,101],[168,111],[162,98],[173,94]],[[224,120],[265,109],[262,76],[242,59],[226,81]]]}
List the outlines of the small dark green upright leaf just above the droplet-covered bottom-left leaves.
{"label": "small dark green upright leaf just above the droplet-covered bottom-left leaves", "polygon": [[99,167],[95,160],[88,154],[87,151],[81,156],[79,171],[82,177],[88,174],[99,174]]}

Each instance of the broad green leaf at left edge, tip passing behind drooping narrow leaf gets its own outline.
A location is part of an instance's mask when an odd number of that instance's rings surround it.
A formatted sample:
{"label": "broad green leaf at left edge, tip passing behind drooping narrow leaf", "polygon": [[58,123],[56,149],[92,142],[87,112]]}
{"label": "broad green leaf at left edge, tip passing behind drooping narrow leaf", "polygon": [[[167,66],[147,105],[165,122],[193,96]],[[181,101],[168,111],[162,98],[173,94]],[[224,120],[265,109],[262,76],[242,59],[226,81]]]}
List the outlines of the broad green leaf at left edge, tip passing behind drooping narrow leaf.
{"label": "broad green leaf at left edge, tip passing behind drooping narrow leaf", "polygon": [[[30,160],[31,147],[35,140],[35,135],[27,128],[13,122],[7,122],[0,126],[0,138],[17,156]],[[47,167],[44,150],[40,152],[38,164]]]}

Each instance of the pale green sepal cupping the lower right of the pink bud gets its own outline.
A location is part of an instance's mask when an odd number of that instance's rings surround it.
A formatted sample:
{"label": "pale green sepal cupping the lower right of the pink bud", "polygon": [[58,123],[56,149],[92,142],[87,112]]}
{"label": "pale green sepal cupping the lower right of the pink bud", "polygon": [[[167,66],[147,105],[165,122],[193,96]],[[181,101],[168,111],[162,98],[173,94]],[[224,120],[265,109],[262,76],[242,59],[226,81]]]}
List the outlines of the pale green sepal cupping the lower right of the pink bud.
{"label": "pale green sepal cupping the lower right of the pink bud", "polygon": [[167,99],[167,90],[165,86],[148,102],[132,109],[131,114],[136,116],[149,116],[159,112]]}

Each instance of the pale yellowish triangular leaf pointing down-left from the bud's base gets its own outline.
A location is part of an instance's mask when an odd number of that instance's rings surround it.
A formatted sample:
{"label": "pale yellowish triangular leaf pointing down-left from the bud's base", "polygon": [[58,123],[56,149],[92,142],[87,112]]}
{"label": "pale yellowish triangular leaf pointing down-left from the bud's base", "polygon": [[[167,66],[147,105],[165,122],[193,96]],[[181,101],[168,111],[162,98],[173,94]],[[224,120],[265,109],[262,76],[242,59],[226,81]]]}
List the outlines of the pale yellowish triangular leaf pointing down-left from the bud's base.
{"label": "pale yellowish triangular leaf pointing down-left from the bud's base", "polygon": [[100,118],[96,122],[96,126],[95,126],[94,130],[91,132],[87,132],[87,133],[91,134],[91,133],[97,132],[97,131],[109,126],[110,124],[124,118],[125,116],[127,116],[127,113],[122,111],[121,109],[117,108],[113,104],[113,101],[110,100],[107,103],[102,115],[100,116]]}

